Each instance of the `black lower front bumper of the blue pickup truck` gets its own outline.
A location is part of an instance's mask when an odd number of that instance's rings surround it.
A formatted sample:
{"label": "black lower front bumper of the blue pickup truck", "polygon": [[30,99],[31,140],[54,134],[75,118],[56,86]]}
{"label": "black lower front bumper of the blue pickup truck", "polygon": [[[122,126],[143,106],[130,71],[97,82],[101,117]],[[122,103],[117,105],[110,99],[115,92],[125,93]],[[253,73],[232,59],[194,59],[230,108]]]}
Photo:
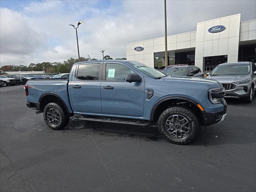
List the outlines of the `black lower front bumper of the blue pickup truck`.
{"label": "black lower front bumper of the blue pickup truck", "polygon": [[214,113],[208,113],[208,112],[203,113],[205,126],[216,124],[224,120],[227,113],[227,104],[224,99],[222,99],[222,104],[224,105],[224,110],[222,111],[218,111]]}

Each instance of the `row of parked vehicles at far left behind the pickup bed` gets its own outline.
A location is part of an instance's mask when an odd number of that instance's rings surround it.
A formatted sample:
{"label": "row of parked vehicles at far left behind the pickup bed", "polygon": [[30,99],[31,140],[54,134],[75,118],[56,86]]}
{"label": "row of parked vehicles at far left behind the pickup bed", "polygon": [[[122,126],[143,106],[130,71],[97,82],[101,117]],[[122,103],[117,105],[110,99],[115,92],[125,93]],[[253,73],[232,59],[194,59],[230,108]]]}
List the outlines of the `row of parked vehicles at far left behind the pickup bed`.
{"label": "row of parked vehicles at far left behind the pickup bed", "polygon": [[20,75],[0,75],[0,87],[4,86],[14,86],[20,84],[26,84],[28,80],[36,79],[50,79],[50,78],[68,78],[69,73],[63,73],[58,75],[32,75],[32,74],[20,74]]}

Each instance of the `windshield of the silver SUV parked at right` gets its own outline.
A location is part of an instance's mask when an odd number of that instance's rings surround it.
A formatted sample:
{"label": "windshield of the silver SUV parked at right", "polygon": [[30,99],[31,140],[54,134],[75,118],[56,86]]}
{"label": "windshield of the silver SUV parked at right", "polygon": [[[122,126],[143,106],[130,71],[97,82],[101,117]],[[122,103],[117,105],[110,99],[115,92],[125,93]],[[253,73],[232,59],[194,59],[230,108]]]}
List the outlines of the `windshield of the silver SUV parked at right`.
{"label": "windshield of the silver SUV parked at right", "polygon": [[217,66],[210,75],[246,75],[250,72],[247,64],[230,64]]}

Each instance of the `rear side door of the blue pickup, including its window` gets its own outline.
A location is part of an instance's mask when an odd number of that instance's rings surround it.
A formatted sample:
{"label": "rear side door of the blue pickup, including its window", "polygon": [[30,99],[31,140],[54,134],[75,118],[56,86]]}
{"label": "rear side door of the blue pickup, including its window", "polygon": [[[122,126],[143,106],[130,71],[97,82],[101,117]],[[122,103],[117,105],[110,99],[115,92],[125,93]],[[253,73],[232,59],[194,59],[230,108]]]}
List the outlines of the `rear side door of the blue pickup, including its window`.
{"label": "rear side door of the blue pickup, including its window", "polygon": [[74,113],[101,114],[102,62],[79,64],[69,83],[70,102]]}

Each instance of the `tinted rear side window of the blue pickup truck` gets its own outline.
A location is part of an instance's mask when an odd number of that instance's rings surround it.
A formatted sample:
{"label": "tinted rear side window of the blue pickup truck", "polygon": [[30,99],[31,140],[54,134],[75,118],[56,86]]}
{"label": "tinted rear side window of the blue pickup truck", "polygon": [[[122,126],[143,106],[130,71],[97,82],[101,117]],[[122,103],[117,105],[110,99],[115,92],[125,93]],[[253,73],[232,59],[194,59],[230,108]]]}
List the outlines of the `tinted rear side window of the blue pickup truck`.
{"label": "tinted rear side window of the blue pickup truck", "polygon": [[100,64],[79,65],[76,78],[79,80],[98,80],[100,73]]}

